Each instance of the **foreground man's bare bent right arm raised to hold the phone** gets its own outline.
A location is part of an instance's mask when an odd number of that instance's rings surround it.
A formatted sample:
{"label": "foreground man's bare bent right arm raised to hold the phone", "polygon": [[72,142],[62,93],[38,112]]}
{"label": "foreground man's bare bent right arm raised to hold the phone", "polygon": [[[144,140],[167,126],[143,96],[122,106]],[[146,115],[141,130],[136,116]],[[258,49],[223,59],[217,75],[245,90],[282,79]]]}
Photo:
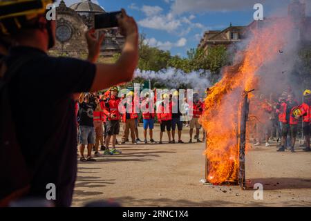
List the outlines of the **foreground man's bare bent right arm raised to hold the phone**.
{"label": "foreground man's bare bent right arm raised to hold the phone", "polygon": [[[91,91],[98,91],[126,81],[131,81],[138,64],[138,27],[132,17],[122,10],[119,18],[125,44],[120,58],[115,64],[96,64],[96,74]],[[90,60],[90,59],[89,59]]]}

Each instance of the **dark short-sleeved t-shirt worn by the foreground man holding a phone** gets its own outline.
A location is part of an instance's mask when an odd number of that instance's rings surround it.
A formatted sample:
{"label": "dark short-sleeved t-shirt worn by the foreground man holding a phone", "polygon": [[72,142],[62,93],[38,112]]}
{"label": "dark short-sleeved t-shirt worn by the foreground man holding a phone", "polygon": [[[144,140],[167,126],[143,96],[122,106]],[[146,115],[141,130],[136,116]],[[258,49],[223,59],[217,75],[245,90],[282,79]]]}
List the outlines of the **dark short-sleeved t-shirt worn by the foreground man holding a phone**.
{"label": "dark short-sleeved t-shirt worn by the foreground man holding a phone", "polygon": [[[29,47],[10,51],[7,65],[32,56],[10,81],[10,103],[17,139],[26,162],[37,171],[31,196],[46,198],[46,185],[56,186],[56,206],[70,206],[77,175],[77,127],[73,93],[91,88],[96,66],[66,57],[48,57]],[[44,157],[41,155],[44,154]],[[41,164],[36,165],[42,158]]]}

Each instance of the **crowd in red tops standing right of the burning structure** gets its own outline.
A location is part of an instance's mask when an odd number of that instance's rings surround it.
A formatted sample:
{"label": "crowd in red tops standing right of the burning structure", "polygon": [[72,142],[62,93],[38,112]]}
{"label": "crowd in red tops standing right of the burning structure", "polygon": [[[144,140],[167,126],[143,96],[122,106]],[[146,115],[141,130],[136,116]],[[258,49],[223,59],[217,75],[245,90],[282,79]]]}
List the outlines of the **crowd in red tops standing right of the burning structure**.
{"label": "crowd in red tops standing right of the burning structure", "polygon": [[270,142],[275,140],[279,143],[277,151],[289,149],[294,153],[297,133],[300,133],[304,138],[303,151],[311,151],[311,90],[303,92],[303,102],[300,103],[290,86],[278,99],[273,95],[269,99],[261,95],[258,102],[263,110],[263,122],[255,125],[254,146],[261,145],[262,140],[265,140],[265,146],[270,146]]}

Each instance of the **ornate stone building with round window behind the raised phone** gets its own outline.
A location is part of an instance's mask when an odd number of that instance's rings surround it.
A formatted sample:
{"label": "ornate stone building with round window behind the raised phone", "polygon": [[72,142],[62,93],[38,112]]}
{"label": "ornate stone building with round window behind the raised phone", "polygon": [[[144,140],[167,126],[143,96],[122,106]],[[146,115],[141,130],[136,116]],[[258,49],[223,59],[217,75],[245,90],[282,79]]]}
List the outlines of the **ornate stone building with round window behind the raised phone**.
{"label": "ornate stone building with round window behind the raised phone", "polygon": [[[87,44],[84,33],[88,28],[94,26],[94,15],[99,13],[106,13],[106,11],[91,0],[82,0],[69,7],[64,1],[60,1],[56,8],[57,42],[55,47],[50,50],[50,54],[86,57]],[[101,49],[102,56],[113,57],[116,53],[121,52],[124,37],[119,34],[117,28],[100,30],[97,35],[100,32],[105,33],[105,40]]]}

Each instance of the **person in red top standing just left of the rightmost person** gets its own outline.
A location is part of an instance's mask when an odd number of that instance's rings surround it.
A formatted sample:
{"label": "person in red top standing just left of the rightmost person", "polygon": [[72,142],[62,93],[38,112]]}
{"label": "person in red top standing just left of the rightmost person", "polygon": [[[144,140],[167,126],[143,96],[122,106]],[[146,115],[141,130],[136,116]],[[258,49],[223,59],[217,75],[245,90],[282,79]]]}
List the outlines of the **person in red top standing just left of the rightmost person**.
{"label": "person in red top standing just left of the rightmost person", "polygon": [[294,113],[297,111],[298,103],[294,101],[293,95],[290,94],[288,95],[288,100],[276,106],[276,108],[280,111],[279,119],[282,122],[281,148],[277,151],[285,151],[286,138],[288,133],[290,133],[291,151],[294,152],[298,124],[298,120],[295,118]]}

